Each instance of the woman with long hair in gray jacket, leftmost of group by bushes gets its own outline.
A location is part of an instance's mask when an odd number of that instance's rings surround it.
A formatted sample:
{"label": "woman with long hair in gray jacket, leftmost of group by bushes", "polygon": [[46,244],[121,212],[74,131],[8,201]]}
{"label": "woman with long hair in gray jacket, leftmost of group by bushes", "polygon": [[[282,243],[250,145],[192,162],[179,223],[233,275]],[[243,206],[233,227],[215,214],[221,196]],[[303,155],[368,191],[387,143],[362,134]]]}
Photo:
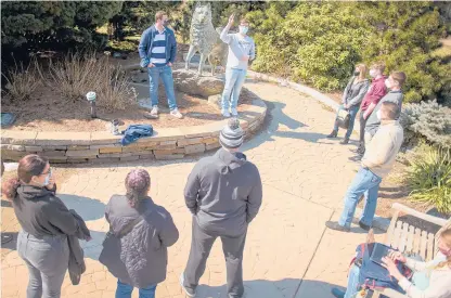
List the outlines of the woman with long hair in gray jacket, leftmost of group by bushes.
{"label": "woman with long hair in gray jacket, leftmost of group by bushes", "polygon": [[[349,112],[350,118],[348,130],[346,131],[345,139],[340,142],[340,144],[349,143],[349,138],[351,137],[353,130],[353,122],[356,120],[357,113],[359,112],[360,103],[370,88],[370,81],[366,79],[366,65],[358,64],[353,76],[346,86],[345,92],[343,92],[342,105],[338,107],[337,116],[340,111],[346,109]],[[335,119],[334,130],[327,135],[327,138],[337,138],[337,135],[338,121]]]}

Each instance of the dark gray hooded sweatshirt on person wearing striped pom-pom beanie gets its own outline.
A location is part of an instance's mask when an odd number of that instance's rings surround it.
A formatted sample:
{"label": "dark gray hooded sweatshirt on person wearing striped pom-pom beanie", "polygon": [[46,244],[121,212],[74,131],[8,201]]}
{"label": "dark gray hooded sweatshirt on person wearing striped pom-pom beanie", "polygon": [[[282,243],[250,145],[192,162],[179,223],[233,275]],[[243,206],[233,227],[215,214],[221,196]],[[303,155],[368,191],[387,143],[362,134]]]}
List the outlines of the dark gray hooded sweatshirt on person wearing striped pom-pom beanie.
{"label": "dark gray hooded sweatshirt on person wearing striped pom-pom beanie", "polygon": [[184,189],[186,207],[201,228],[245,232],[261,206],[262,186],[257,167],[243,153],[220,148],[201,159]]}

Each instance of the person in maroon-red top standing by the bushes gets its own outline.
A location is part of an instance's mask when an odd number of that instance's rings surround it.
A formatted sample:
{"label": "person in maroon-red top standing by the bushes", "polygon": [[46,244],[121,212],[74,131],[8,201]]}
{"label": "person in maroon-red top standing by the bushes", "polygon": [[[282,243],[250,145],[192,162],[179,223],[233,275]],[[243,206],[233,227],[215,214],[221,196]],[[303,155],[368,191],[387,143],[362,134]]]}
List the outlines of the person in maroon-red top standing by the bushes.
{"label": "person in maroon-red top standing by the bushes", "polygon": [[360,156],[363,156],[365,152],[365,124],[370,115],[373,114],[374,107],[379,103],[381,99],[387,94],[387,88],[385,87],[385,63],[376,62],[370,67],[370,76],[373,78],[368,93],[363,98],[360,105],[360,142],[357,152]]}

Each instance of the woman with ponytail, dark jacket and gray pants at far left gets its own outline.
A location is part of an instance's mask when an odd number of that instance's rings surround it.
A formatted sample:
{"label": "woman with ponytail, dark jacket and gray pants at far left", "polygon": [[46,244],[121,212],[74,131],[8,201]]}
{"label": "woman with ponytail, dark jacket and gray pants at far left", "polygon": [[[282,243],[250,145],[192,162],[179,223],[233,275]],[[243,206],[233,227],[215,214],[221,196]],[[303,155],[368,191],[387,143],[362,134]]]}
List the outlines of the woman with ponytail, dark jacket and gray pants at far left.
{"label": "woman with ponytail, dark jacket and gray pants at far left", "polygon": [[22,228],[17,252],[28,267],[27,298],[61,297],[69,262],[67,236],[90,237],[80,233],[80,219],[56,197],[49,161],[38,155],[22,158],[17,178],[3,184],[2,194],[12,202]]}

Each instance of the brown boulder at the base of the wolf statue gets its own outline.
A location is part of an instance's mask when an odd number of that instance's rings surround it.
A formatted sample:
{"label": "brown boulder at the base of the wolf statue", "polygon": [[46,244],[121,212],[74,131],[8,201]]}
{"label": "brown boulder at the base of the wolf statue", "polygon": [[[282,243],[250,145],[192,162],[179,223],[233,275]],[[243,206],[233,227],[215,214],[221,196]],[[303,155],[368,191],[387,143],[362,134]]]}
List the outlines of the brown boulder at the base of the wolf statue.
{"label": "brown boulder at the base of the wolf statue", "polygon": [[176,89],[190,95],[208,99],[208,96],[222,93],[224,88],[221,79],[198,76],[193,70],[177,69],[172,72],[172,76]]}

